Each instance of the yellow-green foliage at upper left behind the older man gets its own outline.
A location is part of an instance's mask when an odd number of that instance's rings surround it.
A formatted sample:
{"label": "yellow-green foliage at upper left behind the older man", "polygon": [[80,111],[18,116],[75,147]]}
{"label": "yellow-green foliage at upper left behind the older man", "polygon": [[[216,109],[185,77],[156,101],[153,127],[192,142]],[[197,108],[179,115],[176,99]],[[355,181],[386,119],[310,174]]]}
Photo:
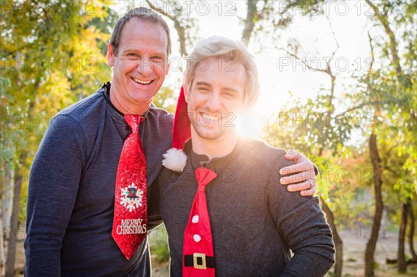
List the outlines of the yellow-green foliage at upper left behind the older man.
{"label": "yellow-green foliage at upper left behind the older man", "polygon": [[49,121],[111,78],[102,53],[110,37],[106,17],[114,22],[115,13],[104,0],[9,3],[0,17],[0,164],[26,172],[23,219],[28,168]]}

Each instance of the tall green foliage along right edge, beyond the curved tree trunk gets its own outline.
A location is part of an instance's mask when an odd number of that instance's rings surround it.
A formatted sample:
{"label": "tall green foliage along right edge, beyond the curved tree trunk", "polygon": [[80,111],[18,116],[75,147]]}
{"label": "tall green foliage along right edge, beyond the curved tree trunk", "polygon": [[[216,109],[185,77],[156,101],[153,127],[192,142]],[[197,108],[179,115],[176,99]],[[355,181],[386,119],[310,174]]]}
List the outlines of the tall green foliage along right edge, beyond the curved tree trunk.
{"label": "tall green foliage along right edge, beyond the curved tree trunk", "polygon": [[[370,41],[376,66],[359,76],[358,92],[351,95],[362,103],[373,103],[363,110],[375,112],[373,130],[379,139],[384,189],[396,192],[400,201],[413,199],[417,177],[417,31],[416,6],[411,2],[375,3],[380,15],[373,20],[384,31]],[[398,57],[393,55],[396,51]]]}

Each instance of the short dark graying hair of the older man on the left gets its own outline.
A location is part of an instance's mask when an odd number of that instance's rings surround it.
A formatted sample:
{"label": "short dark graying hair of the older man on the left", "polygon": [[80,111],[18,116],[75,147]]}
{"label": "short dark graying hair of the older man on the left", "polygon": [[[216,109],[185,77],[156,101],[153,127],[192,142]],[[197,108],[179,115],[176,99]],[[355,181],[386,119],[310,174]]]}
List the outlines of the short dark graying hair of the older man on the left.
{"label": "short dark graying hair of the older man on the left", "polygon": [[126,24],[126,22],[129,22],[130,19],[132,19],[133,17],[142,20],[147,20],[148,22],[160,24],[165,29],[168,37],[167,56],[170,56],[172,51],[172,44],[170,28],[168,28],[167,22],[165,22],[165,19],[163,19],[161,15],[158,15],[158,13],[154,12],[154,10],[145,7],[133,8],[117,20],[116,26],[113,29],[113,32],[111,33],[110,39],[110,44],[113,47],[113,52],[117,54],[117,49],[119,48],[120,37],[122,36],[124,24]]}

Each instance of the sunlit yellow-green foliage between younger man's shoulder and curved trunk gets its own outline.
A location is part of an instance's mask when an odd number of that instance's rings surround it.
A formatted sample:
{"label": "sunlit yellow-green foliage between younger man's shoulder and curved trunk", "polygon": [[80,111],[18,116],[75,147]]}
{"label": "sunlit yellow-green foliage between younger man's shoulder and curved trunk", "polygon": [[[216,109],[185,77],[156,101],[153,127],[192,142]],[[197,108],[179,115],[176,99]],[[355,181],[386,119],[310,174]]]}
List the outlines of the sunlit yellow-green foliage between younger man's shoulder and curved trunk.
{"label": "sunlit yellow-green foliage between younger man's shoulder and curved trunk", "polygon": [[[366,162],[347,146],[352,125],[328,111],[329,94],[304,103],[295,99],[277,120],[267,120],[265,140],[284,149],[297,149],[318,167],[318,194],[336,217],[335,224],[350,222],[368,207],[352,204],[363,178]],[[330,109],[332,110],[332,108]]]}

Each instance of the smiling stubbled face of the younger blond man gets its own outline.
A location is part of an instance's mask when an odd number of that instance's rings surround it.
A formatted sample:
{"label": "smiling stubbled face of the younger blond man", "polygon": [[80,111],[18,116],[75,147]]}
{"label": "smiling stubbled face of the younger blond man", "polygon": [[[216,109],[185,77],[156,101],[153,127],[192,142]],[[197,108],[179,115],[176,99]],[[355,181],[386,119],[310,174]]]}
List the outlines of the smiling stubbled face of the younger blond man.
{"label": "smiling stubbled face of the younger blond man", "polygon": [[245,67],[240,62],[206,58],[195,71],[186,92],[193,140],[227,139],[236,132],[236,121],[245,109]]}

